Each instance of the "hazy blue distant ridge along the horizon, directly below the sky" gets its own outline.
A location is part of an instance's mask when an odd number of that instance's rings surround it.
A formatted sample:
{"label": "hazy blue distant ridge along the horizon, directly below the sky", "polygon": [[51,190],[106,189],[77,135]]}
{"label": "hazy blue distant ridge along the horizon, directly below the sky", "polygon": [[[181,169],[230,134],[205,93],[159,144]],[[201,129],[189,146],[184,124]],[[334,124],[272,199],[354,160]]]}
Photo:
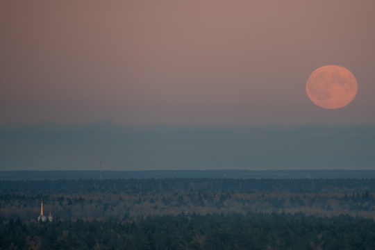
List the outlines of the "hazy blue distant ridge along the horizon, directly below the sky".
{"label": "hazy blue distant ridge along the horizon, directly below the sky", "polygon": [[0,179],[16,180],[78,180],[78,179],[140,179],[140,178],[375,178],[374,170],[147,170],[147,171],[0,171]]}

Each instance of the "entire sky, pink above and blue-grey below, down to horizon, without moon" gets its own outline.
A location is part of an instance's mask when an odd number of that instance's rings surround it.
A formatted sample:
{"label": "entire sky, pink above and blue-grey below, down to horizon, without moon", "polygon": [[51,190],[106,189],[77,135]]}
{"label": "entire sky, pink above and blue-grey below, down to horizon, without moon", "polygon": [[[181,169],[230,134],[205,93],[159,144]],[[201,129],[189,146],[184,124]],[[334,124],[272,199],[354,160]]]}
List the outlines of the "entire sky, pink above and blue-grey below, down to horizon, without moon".
{"label": "entire sky, pink above and blue-grey below, down to horizon, without moon", "polygon": [[[0,170],[372,169],[374,10],[1,1]],[[356,77],[348,106],[308,99],[324,65]]]}

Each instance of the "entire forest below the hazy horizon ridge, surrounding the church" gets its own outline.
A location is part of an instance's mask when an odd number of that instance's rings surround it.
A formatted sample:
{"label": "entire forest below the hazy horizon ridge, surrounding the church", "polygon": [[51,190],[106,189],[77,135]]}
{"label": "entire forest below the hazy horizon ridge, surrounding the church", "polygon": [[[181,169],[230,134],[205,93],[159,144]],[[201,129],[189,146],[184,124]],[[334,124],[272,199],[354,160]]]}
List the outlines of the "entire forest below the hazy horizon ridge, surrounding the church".
{"label": "entire forest below the hazy horizon ridge, surrounding the church", "polygon": [[374,193],[372,178],[0,181],[0,249],[375,249]]}

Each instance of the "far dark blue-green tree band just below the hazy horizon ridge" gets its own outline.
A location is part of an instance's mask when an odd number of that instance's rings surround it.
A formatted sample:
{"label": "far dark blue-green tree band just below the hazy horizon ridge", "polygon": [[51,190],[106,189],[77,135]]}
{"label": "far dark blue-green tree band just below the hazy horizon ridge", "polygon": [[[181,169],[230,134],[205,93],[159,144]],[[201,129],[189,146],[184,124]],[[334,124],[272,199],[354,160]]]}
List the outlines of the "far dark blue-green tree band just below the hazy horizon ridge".
{"label": "far dark blue-green tree band just below the hazy horizon ridge", "polygon": [[57,181],[0,181],[1,193],[22,192],[22,194],[50,195],[56,192],[66,194],[81,192],[137,192],[195,190],[231,192],[375,192],[372,178],[332,179],[238,179],[238,178],[149,178],[149,179],[79,179]]}

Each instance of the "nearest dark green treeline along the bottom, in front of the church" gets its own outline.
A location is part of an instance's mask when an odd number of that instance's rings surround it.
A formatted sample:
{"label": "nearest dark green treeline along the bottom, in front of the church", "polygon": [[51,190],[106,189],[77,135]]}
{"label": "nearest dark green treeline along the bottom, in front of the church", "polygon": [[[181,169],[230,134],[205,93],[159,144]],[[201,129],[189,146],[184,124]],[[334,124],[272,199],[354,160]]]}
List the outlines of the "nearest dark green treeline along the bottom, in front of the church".
{"label": "nearest dark green treeline along the bottom, in front of the church", "polygon": [[4,221],[0,249],[375,249],[375,222],[302,213]]}

